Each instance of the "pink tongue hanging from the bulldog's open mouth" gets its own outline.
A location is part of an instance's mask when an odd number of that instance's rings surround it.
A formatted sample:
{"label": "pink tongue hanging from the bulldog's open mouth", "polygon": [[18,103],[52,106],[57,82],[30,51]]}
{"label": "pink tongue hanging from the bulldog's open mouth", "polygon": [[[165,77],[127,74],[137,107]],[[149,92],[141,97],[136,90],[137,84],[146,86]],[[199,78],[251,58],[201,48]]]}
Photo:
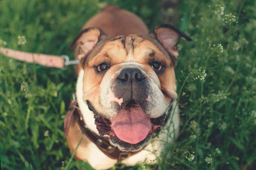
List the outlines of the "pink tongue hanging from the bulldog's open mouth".
{"label": "pink tongue hanging from the bulldog's open mouth", "polygon": [[151,122],[138,106],[121,110],[112,118],[111,127],[119,139],[136,144],[147,137],[151,130]]}

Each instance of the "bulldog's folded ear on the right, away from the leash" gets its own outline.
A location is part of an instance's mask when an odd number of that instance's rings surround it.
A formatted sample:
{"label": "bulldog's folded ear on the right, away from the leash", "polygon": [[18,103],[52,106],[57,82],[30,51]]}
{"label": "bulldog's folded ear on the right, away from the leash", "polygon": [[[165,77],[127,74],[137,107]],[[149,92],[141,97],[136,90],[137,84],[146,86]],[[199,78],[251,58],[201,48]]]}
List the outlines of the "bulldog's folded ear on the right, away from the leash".
{"label": "bulldog's folded ear on the right, away from the leash", "polygon": [[154,27],[154,33],[157,36],[159,42],[164,48],[177,59],[179,52],[177,50],[177,44],[179,43],[180,36],[185,38],[187,41],[192,39],[187,36],[184,32],[179,31],[173,25],[161,24]]}

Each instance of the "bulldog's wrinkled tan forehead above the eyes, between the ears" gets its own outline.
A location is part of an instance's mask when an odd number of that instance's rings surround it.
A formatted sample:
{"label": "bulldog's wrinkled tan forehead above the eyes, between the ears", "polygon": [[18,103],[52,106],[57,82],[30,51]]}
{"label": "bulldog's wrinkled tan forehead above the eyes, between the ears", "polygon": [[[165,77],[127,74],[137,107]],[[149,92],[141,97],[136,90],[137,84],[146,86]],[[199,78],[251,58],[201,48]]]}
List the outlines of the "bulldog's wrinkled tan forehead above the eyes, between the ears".
{"label": "bulldog's wrinkled tan forehead above the eyes, between the ears", "polygon": [[163,46],[150,36],[115,36],[100,39],[92,52],[87,56],[87,62],[96,60],[95,57],[114,57],[116,62],[134,57],[160,57],[172,64],[172,59]]}

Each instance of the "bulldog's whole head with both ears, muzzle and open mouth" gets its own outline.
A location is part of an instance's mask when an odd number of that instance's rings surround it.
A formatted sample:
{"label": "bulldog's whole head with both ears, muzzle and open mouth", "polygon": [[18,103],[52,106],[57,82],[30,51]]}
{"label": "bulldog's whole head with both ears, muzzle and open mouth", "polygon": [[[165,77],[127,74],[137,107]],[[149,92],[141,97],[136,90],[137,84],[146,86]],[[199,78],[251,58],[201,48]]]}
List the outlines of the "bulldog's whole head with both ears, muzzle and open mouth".
{"label": "bulldog's whole head with both ears, muzzle and open mouth", "polygon": [[140,150],[177,98],[174,66],[183,32],[160,25],[148,36],[82,31],[72,46],[83,66],[83,100],[100,135],[122,151]]}

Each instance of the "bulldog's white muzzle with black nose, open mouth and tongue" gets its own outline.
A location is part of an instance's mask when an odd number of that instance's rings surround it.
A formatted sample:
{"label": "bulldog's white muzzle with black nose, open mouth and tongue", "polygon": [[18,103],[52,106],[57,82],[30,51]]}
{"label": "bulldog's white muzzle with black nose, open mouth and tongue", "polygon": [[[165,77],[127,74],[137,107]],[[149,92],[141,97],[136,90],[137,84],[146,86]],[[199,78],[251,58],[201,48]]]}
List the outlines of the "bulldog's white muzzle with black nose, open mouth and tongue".
{"label": "bulldog's white muzzle with black nose, open mouth and tongue", "polygon": [[127,152],[147,145],[164,124],[169,106],[154,78],[132,64],[103,81],[100,99],[108,114],[95,116],[99,134],[108,134],[112,145]]}

